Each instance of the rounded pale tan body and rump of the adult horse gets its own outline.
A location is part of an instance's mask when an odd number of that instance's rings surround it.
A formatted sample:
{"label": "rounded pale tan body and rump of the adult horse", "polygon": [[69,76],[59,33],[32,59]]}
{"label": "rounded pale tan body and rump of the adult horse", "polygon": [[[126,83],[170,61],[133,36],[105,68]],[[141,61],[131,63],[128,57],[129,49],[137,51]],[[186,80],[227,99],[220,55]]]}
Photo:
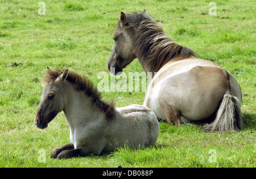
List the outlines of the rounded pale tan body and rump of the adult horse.
{"label": "rounded pale tan body and rump of the adult horse", "polygon": [[[148,100],[148,105],[153,105],[158,111],[157,116],[164,117],[160,106],[161,103],[168,103],[189,120],[208,118],[216,111],[229,88],[227,73],[216,63],[204,59],[167,63],[152,80],[155,82],[149,90],[155,99]],[[233,86],[236,94],[239,93],[239,84],[232,75],[230,78],[230,86]],[[237,97],[240,99],[239,95]]]}

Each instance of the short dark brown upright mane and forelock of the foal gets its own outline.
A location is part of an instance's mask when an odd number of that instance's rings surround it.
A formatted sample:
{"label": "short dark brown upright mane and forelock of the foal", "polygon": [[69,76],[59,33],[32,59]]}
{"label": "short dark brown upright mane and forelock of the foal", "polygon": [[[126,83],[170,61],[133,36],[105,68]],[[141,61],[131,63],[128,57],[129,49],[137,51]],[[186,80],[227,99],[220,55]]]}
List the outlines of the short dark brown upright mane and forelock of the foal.
{"label": "short dark brown upright mane and forelock of the foal", "polygon": [[[47,84],[56,80],[65,69],[46,70],[43,77],[43,83]],[[79,75],[75,71],[68,71],[67,81],[72,84],[76,91],[82,91],[86,96],[90,97],[92,104],[95,104],[102,112],[106,114],[107,119],[114,116],[114,103],[105,103],[101,99],[101,92],[94,86],[93,82],[85,75]]]}

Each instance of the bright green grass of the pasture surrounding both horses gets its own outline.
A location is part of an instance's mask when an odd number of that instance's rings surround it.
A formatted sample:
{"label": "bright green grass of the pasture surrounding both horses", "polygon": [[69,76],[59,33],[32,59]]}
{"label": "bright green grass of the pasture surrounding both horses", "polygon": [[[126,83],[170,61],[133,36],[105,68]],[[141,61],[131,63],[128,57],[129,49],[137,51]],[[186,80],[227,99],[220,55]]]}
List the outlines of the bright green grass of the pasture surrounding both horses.
{"label": "bright green grass of the pasture surrounding both horses", "polygon": [[[46,16],[39,16],[38,1],[0,0],[0,167],[256,167],[255,1],[214,1],[216,16],[208,15],[211,1],[203,0],[44,2]],[[69,67],[100,82],[98,73],[109,74],[120,11],[144,8],[175,42],[236,77],[243,94],[244,129],[205,133],[196,125],[161,123],[155,148],[50,159],[53,148],[69,142],[69,129],[63,113],[46,130],[34,126],[46,66]],[[23,65],[8,66],[12,62]],[[143,69],[136,59],[124,71]],[[142,104],[144,99],[144,92],[103,95],[113,98],[116,106]],[[46,163],[38,161],[40,149],[46,151]],[[215,154],[216,162],[210,162]]]}

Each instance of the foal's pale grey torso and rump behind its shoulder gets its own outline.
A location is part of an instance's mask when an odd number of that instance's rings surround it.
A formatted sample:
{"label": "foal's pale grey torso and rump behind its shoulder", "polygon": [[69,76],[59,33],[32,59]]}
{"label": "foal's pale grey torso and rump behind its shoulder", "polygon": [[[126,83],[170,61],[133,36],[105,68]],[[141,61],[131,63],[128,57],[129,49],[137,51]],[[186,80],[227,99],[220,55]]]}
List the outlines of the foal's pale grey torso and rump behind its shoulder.
{"label": "foal's pale grey torso and rump behind its shoulder", "polygon": [[159,123],[151,109],[133,104],[115,110],[116,118],[110,122],[112,135],[104,152],[112,152],[125,145],[130,148],[155,146]]}

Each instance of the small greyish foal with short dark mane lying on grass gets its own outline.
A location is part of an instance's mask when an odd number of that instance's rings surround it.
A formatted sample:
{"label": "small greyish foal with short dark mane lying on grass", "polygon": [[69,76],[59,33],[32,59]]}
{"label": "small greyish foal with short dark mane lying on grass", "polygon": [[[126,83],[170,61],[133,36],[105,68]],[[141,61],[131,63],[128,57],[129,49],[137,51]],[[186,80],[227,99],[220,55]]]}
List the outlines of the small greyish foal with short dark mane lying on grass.
{"label": "small greyish foal with short dark mane lying on grass", "polygon": [[114,108],[101,100],[101,93],[86,76],[47,69],[35,125],[46,128],[63,110],[71,140],[52,150],[52,158],[109,154],[125,145],[131,148],[155,145],[159,123],[149,108],[136,104]]}

